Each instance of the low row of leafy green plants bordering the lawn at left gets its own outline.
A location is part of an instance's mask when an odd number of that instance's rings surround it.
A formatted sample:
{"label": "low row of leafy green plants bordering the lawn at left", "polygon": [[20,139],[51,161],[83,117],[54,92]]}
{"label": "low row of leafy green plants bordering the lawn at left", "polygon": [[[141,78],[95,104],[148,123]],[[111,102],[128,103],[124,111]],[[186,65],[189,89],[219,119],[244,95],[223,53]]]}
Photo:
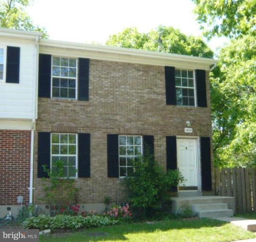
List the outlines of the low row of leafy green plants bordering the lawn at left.
{"label": "low row of leafy green plants bordering the lawn at left", "polygon": [[106,216],[69,216],[57,215],[54,217],[39,215],[38,217],[29,217],[23,223],[26,229],[78,229],[88,227],[99,227],[106,225],[115,225],[116,220]]}

